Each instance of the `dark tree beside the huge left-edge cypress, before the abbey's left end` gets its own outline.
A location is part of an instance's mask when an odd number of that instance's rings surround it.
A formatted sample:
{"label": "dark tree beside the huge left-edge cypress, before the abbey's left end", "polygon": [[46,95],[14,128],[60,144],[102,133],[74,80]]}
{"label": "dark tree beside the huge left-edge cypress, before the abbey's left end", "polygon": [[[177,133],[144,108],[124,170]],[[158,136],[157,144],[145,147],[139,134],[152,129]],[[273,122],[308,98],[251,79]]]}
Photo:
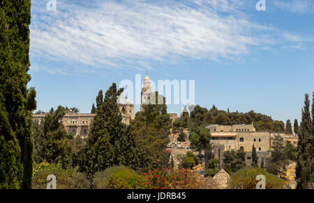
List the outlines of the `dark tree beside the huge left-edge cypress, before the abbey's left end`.
{"label": "dark tree beside the huge left-edge cypress, before the abbey's left end", "polygon": [[65,108],[52,108],[45,114],[45,119],[33,123],[35,140],[34,161],[36,163],[61,163],[64,168],[72,163],[72,150],[66,140],[66,129],[61,122]]}

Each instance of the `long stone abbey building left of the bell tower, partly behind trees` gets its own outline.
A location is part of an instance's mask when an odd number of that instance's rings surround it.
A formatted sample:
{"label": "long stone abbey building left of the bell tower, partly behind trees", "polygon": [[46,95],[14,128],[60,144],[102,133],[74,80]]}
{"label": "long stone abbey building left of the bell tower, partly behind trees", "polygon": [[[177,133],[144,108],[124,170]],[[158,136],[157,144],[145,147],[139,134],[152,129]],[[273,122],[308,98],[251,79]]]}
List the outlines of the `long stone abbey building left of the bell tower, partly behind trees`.
{"label": "long stone abbey building left of the bell tower, partly behind trees", "polygon": [[[131,120],[134,119],[134,104],[126,100],[124,104],[118,104],[122,121],[124,124],[130,124]],[[67,133],[72,133],[73,136],[80,136],[87,138],[91,122],[93,122],[95,114],[92,113],[75,113],[73,111],[67,111],[63,116],[61,122],[66,128]],[[40,122],[45,119],[45,114],[33,114],[33,121]]]}

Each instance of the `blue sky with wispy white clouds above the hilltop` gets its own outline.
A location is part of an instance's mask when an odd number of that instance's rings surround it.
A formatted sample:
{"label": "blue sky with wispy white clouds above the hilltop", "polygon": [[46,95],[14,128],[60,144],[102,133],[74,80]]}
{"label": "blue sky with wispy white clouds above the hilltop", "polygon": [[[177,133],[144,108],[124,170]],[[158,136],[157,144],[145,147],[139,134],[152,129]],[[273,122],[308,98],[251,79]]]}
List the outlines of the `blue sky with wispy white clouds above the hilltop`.
{"label": "blue sky with wispy white clouds above the hilltop", "polygon": [[98,90],[147,70],[154,81],[195,80],[195,103],[207,108],[300,120],[314,90],[314,2],[266,0],[257,11],[257,1],[57,0],[47,10],[34,0],[29,86],[38,109],[89,113]]}

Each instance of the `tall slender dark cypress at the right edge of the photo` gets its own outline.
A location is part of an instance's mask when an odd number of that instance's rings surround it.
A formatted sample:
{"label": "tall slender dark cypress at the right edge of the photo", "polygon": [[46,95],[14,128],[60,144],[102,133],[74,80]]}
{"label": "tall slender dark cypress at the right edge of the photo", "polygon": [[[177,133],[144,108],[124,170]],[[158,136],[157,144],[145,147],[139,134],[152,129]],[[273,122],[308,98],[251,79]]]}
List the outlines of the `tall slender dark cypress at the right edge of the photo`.
{"label": "tall slender dark cypress at the right edge of the photo", "polygon": [[[309,95],[305,95],[302,120],[299,129],[298,159],[296,167],[297,188],[306,189],[314,182],[313,176],[313,121],[310,112]],[[313,95],[314,100],[314,95]],[[314,113],[312,106],[312,113]],[[312,115],[313,116],[313,115]]]}

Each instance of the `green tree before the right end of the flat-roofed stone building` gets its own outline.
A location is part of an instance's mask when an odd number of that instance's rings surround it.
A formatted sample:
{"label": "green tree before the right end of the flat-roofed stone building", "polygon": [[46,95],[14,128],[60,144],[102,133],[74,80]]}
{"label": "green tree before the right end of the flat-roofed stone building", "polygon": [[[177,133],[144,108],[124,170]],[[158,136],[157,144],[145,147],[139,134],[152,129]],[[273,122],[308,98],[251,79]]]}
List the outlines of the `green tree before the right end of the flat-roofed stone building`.
{"label": "green tree before the right end of the flat-roofed stone building", "polygon": [[267,170],[273,174],[278,174],[285,167],[286,164],[285,145],[283,137],[275,134],[271,138],[271,157],[269,160],[269,167]]}

